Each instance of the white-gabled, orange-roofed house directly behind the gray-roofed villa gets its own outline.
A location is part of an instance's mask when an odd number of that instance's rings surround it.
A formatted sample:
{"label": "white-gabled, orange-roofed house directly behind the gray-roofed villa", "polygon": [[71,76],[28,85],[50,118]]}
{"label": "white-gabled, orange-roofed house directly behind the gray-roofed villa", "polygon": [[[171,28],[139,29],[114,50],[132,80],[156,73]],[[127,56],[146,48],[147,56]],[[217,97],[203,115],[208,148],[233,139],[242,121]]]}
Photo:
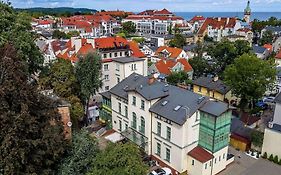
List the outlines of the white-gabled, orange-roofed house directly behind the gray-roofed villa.
{"label": "white-gabled, orange-roofed house directly behind the gray-roofed villa", "polygon": [[180,71],[184,71],[186,74],[188,74],[189,79],[192,79],[193,69],[188,61],[184,58],[177,60],[161,59],[148,68],[149,74],[160,74],[164,77],[171,75],[173,72]]}

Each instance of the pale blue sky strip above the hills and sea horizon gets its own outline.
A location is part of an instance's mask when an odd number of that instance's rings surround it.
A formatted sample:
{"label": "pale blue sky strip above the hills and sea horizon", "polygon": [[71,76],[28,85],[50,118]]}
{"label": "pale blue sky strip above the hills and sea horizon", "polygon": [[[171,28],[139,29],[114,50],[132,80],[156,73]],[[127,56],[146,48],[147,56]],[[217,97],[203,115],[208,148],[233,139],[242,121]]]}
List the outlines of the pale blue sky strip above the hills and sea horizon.
{"label": "pale blue sky strip above the hills and sea horizon", "polygon": [[[14,7],[86,7],[105,10],[167,8],[174,12],[239,12],[247,0],[10,0]],[[252,11],[281,12],[281,0],[252,0]]]}

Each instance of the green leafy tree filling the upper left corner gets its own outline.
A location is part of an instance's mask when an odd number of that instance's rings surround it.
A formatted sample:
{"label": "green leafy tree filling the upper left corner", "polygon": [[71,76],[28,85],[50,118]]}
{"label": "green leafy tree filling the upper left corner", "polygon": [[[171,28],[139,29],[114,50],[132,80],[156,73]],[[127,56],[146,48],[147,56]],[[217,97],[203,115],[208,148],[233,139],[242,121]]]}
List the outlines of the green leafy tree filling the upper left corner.
{"label": "green leafy tree filling the upper left corner", "polygon": [[16,13],[14,9],[0,1],[0,47],[13,44],[19,59],[26,64],[32,74],[43,66],[43,56],[35,45],[35,35],[31,32],[31,17],[26,13]]}

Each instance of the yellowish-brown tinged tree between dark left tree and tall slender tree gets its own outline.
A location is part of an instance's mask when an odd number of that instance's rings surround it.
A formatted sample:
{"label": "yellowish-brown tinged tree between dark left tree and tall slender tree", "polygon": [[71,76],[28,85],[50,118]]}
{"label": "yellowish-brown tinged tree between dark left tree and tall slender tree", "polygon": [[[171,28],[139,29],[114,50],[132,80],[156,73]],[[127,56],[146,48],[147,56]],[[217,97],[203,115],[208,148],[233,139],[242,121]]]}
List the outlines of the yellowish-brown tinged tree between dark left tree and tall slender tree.
{"label": "yellowish-brown tinged tree between dark left tree and tall slender tree", "polygon": [[48,73],[39,79],[41,89],[54,90],[54,93],[71,103],[70,116],[73,128],[78,128],[78,121],[83,117],[83,105],[80,85],[74,67],[69,60],[58,59],[52,63]]}

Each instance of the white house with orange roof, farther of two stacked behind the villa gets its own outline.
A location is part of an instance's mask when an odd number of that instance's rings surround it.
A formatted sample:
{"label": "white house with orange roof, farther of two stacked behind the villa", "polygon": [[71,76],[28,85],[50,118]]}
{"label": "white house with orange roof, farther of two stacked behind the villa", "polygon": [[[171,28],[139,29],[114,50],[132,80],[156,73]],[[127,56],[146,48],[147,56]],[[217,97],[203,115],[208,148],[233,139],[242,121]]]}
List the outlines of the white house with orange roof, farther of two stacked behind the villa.
{"label": "white house with orange roof, farther of two stacked behind the villa", "polygon": [[151,57],[151,61],[155,63],[160,61],[162,58],[174,60],[184,58],[188,60],[188,56],[183,49],[168,46],[159,47],[155,54]]}

